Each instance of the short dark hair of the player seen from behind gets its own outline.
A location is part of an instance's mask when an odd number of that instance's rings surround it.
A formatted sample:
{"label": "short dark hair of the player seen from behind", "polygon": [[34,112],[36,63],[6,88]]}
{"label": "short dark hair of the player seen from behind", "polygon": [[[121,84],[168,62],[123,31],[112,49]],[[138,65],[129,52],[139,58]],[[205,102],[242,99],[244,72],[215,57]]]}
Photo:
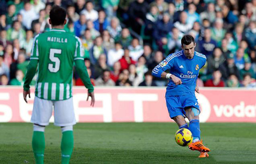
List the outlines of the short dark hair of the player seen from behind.
{"label": "short dark hair of the player seen from behind", "polygon": [[54,5],[50,11],[52,26],[64,25],[66,15],[67,13],[64,8]]}

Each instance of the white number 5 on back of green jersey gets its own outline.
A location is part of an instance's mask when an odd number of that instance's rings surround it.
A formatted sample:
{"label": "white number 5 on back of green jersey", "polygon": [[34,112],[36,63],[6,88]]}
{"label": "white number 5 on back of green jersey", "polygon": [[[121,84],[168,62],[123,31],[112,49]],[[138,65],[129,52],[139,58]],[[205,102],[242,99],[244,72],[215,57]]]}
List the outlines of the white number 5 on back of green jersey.
{"label": "white number 5 on back of green jersey", "polygon": [[53,64],[49,63],[48,69],[50,72],[56,73],[60,70],[61,61],[58,57],[55,57],[55,54],[61,54],[61,49],[50,49],[50,60],[55,63],[55,67]]}

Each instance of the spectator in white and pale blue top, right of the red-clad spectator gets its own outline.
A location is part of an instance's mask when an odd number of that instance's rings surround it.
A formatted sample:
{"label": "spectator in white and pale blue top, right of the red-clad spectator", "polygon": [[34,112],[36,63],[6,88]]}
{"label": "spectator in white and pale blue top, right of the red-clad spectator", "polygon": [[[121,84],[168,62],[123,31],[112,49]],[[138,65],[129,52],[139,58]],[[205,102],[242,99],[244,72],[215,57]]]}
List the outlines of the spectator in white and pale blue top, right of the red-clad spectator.
{"label": "spectator in white and pale blue top, right of the red-clad spectator", "polygon": [[134,61],[138,61],[138,58],[143,54],[143,46],[139,45],[139,41],[137,38],[132,40],[132,44],[128,46],[130,50],[130,56]]}

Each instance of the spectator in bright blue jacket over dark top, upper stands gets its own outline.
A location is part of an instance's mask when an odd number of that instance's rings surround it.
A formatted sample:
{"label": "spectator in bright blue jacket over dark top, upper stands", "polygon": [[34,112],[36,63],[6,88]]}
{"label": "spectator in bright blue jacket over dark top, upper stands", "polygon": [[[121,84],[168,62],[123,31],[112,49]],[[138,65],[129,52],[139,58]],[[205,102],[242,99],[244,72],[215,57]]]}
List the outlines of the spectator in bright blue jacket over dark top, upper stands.
{"label": "spectator in bright blue jacket over dark top, upper stands", "polygon": [[106,18],[106,14],[104,10],[99,11],[99,18],[94,21],[94,27],[98,30],[101,34],[104,30],[107,30],[109,26],[109,21]]}

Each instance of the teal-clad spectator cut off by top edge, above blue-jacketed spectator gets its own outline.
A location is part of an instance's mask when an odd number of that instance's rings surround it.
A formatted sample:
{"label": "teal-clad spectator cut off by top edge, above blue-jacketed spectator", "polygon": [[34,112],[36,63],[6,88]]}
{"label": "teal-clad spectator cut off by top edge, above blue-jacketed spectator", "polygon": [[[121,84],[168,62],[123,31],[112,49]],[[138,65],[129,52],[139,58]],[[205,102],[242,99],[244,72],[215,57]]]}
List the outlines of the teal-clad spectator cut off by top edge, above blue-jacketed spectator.
{"label": "teal-clad spectator cut off by top edge, above blue-jacketed spectator", "polygon": [[110,20],[114,16],[117,16],[118,4],[119,0],[102,1],[101,5],[106,11],[108,20]]}

